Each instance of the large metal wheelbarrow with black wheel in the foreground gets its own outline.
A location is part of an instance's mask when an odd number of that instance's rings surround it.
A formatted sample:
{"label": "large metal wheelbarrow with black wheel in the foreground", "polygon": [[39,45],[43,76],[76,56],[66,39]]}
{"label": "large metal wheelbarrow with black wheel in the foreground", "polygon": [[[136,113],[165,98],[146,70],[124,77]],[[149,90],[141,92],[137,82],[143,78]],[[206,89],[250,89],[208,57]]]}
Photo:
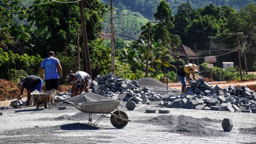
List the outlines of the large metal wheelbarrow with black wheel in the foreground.
{"label": "large metal wheelbarrow with black wheel in the foreground", "polygon": [[[130,120],[125,112],[119,111],[117,106],[121,101],[118,100],[108,100],[108,101],[96,101],[96,102],[83,102],[79,103],[77,106],[75,103],[62,100],[64,103],[69,103],[70,105],[77,108],[82,113],[89,114],[89,124],[91,126],[96,126],[107,114],[111,114],[110,122],[116,128],[124,128]],[[117,111],[114,111],[117,109]],[[114,111],[114,112],[113,112]],[[113,113],[112,113],[113,112]],[[98,120],[92,124],[92,114],[102,114]]]}

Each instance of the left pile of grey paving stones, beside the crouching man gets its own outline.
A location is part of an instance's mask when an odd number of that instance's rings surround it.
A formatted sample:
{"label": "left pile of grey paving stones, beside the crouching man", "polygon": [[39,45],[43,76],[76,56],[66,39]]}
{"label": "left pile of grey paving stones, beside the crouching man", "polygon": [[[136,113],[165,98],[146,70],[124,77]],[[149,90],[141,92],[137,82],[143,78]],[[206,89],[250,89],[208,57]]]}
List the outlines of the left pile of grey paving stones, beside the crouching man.
{"label": "left pile of grey paving stones, beside the crouching man", "polygon": [[141,88],[136,80],[122,79],[121,76],[115,78],[111,73],[98,75],[91,83],[90,92],[116,100],[134,101],[136,104],[162,100],[160,94],[150,92],[148,87]]}

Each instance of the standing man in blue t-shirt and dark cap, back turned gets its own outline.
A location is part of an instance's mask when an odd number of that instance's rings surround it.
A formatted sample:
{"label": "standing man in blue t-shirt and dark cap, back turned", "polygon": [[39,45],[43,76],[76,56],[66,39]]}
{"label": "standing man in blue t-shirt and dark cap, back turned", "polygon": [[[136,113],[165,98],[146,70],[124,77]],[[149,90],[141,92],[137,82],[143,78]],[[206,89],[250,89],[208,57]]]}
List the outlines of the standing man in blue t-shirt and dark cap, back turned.
{"label": "standing man in blue t-shirt and dark cap, back turned", "polygon": [[[59,75],[58,71],[59,70]],[[44,69],[44,75],[43,75]],[[42,61],[40,66],[40,74],[41,78],[45,79],[46,83],[46,91],[51,91],[53,89],[59,89],[59,78],[62,78],[62,67],[60,66],[60,62],[57,58],[54,58],[54,52],[48,52],[48,58],[45,58]]]}

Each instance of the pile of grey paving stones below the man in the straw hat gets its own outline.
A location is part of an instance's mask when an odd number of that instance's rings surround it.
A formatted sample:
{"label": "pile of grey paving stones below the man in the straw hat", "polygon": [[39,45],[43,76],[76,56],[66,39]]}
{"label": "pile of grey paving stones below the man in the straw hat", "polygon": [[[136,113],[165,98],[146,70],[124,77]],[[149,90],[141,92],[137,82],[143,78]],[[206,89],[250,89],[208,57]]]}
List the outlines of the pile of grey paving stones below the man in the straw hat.
{"label": "pile of grey paving stones below the man in the straw hat", "polygon": [[256,113],[256,93],[246,85],[213,87],[204,79],[191,80],[189,85],[184,93],[177,96],[170,95],[159,105],[169,108]]}

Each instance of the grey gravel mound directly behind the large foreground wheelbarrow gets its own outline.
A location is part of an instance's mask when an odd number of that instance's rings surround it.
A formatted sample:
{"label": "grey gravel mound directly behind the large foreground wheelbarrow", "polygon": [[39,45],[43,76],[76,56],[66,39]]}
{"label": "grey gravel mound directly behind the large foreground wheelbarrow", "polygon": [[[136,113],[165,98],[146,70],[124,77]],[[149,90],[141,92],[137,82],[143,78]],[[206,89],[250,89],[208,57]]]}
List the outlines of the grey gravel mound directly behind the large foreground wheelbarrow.
{"label": "grey gravel mound directly behind the large foreground wheelbarrow", "polygon": [[[113,100],[111,97],[105,97],[102,95],[98,95],[91,92],[86,92],[84,94],[80,94],[78,96],[71,97],[67,99],[68,101],[71,101],[75,104],[79,104],[82,102],[94,102],[94,101],[107,101],[107,100]],[[53,107],[60,107],[60,106],[71,106],[68,103],[59,103],[58,105],[55,105]],[[125,103],[120,102],[119,107],[125,107]]]}

